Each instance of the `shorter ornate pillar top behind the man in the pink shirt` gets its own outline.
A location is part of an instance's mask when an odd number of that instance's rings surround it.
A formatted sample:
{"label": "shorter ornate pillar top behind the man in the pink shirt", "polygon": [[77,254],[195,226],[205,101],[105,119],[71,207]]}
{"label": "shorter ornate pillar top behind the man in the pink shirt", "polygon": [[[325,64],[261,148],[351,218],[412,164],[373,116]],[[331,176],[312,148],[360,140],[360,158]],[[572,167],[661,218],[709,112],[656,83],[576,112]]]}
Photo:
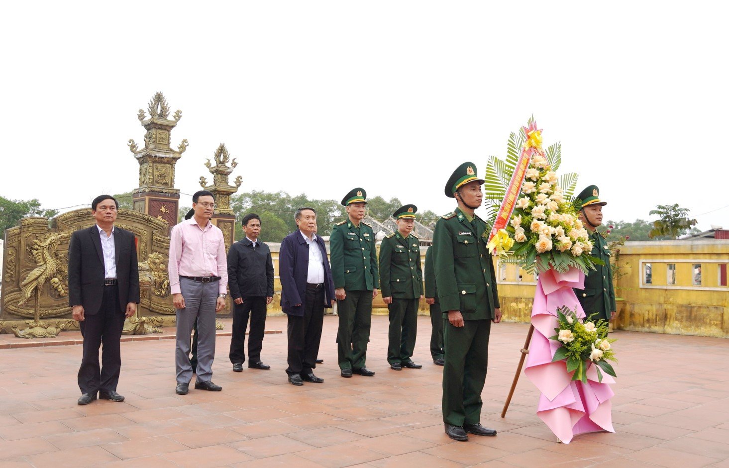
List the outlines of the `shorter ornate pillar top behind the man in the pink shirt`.
{"label": "shorter ornate pillar top behind the man in the pink shirt", "polygon": [[[224,143],[221,143],[215,150],[213,157],[215,164],[211,163],[209,159],[205,163],[210,173],[213,174],[213,183],[208,185],[207,179],[200,177],[200,186],[203,187],[203,190],[209,190],[215,195],[215,211],[211,222],[222,230],[227,251],[235,241],[235,214],[230,209],[230,195],[238,192],[238,187],[241,187],[243,180],[241,176],[238,176],[233,182],[235,186],[228,183],[230,173],[238,163],[235,162],[235,157],[230,160],[230,154]],[[227,165],[229,161],[230,166]]]}

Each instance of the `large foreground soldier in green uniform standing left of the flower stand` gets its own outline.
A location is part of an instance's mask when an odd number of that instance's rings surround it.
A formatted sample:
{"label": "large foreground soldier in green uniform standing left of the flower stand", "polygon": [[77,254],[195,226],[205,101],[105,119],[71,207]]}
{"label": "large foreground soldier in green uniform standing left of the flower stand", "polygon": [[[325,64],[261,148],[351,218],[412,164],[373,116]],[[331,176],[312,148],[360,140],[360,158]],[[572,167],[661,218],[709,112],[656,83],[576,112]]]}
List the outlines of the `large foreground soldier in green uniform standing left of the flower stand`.
{"label": "large foreground soldier in green uniform standing left of the flower stand", "polygon": [[502,319],[496,274],[486,249],[486,222],[475,215],[483,192],[474,163],[463,163],[445,185],[458,207],[438,219],[433,235],[433,270],[443,324],[443,422],[453,440],[468,434],[496,435],[480,424],[481,391],[488,367],[491,322]]}

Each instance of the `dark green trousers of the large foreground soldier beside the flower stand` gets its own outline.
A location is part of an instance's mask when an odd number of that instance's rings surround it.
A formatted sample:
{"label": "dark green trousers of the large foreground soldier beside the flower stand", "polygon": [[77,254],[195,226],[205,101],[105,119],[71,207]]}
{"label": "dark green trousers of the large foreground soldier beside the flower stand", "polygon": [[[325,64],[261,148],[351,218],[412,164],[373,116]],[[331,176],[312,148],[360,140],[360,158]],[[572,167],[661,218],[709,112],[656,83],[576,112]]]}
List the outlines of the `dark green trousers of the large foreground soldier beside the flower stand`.
{"label": "dark green trousers of the large foreground soldier beside the flower stand", "polygon": [[443,422],[453,426],[480,422],[490,333],[488,319],[464,320],[459,328],[443,321]]}

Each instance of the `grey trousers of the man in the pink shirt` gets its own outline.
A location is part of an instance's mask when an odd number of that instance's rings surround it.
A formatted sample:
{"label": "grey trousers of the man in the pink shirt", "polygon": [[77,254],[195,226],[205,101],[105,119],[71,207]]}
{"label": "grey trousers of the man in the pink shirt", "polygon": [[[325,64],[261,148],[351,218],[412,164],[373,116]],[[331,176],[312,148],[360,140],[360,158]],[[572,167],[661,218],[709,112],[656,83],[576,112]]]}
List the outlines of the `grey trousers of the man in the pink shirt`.
{"label": "grey trousers of the man in the pink shirt", "polygon": [[180,278],[180,292],[184,298],[184,309],[176,309],[177,335],[175,340],[175,367],[177,383],[190,383],[190,333],[198,321],[198,381],[209,381],[213,377],[213,358],[215,356],[215,303],[219,284],[198,283]]}

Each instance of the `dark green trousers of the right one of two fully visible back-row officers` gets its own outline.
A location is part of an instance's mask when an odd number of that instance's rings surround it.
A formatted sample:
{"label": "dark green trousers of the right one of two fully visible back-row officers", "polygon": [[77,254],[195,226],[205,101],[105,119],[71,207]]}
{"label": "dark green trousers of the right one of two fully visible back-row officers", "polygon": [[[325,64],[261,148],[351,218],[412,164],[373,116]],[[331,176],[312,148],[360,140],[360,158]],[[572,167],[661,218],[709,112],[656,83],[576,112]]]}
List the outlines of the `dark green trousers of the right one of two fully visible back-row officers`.
{"label": "dark green trousers of the right one of two fully visible back-row officers", "polygon": [[409,362],[415,350],[418,335],[419,299],[393,299],[387,305],[390,328],[387,334],[387,362]]}

